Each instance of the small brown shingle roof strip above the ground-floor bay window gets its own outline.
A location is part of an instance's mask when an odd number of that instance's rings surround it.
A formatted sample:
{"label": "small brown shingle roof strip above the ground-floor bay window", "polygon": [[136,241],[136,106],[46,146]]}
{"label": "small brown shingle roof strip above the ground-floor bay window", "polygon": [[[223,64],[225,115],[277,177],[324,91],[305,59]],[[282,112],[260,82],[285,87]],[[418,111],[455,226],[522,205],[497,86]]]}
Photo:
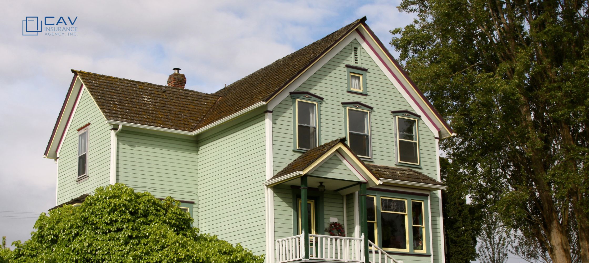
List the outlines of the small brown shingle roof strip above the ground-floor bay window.
{"label": "small brown shingle roof strip above the ground-floor bay window", "polygon": [[427,183],[429,185],[443,185],[432,177],[413,169],[367,164],[366,167],[378,178],[401,180],[413,183]]}

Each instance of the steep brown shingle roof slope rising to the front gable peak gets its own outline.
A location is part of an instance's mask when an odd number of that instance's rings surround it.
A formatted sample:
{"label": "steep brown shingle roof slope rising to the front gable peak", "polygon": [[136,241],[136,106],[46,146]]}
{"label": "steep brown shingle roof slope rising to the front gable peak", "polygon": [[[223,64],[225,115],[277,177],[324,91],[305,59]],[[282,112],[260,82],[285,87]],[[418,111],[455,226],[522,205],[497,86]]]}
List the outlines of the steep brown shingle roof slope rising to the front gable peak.
{"label": "steep brown shingle roof slope rising to the front gable peak", "polygon": [[360,18],[352,22],[352,24],[346,25],[332,34],[294,51],[292,54],[280,58],[274,63],[213,93],[221,96],[221,98],[204,120],[198,123],[195,130],[246,109],[259,101],[269,100],[274,93],[277,93],[290,80],[302,73],[317,58],[329,51],[333,45],[363,21],[366,21],[366,17]]}

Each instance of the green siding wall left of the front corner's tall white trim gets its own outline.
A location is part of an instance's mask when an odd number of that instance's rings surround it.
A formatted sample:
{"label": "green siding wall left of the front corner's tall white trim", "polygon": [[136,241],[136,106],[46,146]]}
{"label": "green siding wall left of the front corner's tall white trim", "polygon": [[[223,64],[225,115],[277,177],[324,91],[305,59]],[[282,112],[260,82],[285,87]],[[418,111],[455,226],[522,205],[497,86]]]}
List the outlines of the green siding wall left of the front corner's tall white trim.
{"label": "green siding wall left of the front corner's tall white trim", "polygon": [[265,149],[264,114],[198,137],[198,227],[256,254],[266,252]]}

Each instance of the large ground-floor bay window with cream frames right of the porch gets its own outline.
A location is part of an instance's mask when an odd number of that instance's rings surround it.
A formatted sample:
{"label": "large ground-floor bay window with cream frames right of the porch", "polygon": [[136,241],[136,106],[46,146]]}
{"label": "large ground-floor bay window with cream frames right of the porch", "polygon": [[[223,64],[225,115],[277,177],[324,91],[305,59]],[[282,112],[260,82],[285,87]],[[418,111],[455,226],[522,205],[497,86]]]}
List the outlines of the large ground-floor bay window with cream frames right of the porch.
{"label": "large ground-floor bay window with cream frames right of the porch", "polygon": [[426,253],[425,202],[367,195],[368,239],[386,251]]}

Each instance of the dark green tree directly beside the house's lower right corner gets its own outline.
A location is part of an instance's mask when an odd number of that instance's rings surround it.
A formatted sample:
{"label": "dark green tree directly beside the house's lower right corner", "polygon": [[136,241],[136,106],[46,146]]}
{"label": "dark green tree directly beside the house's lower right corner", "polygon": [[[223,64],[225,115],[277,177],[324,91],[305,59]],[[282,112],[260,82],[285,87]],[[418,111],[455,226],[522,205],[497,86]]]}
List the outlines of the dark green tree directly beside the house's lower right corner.
{"label": "dark green tree directly beside the house's lower right corner", "polygon": [[470,263],[477,257],[480,207],[466,203],[464,182],[468,178],[444,157],[440,158],[440,173],[446,185],[442,192],[446,263]]}

